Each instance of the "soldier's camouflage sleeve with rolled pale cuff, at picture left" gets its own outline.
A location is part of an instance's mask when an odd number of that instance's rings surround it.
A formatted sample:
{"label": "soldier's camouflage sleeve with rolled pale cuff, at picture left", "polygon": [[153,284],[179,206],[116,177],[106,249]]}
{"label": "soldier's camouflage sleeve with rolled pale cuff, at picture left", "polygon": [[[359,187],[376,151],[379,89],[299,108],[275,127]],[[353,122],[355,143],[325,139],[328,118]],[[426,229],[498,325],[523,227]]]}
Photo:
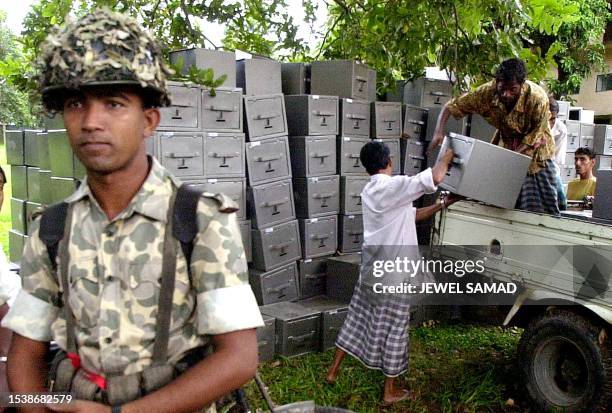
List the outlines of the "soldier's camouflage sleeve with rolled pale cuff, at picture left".
{"label": "soldier's camouflage sleeve with rolled pale cuff, at picture left", "polygon": [[38,237],[40,219],[33,224],[21,259],[22,289],[2,320],[2,326],[37,341],[51,341],[51,324],[59,314],[59,286],[47,249]]}

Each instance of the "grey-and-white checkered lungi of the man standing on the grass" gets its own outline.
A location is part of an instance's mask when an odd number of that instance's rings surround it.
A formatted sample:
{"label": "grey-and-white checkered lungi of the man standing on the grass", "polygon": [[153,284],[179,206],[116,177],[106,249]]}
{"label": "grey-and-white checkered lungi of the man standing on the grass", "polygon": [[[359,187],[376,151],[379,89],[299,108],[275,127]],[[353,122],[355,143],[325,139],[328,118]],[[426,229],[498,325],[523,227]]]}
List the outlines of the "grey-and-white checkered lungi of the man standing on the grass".
{"label": "grey-and-white checkered lungi of the man standing on the grass", "polygon": [[366,367],[396,377],[408,370],[410,304],[401,299],[372,299],[368,288],[355,287],[336,346]]}

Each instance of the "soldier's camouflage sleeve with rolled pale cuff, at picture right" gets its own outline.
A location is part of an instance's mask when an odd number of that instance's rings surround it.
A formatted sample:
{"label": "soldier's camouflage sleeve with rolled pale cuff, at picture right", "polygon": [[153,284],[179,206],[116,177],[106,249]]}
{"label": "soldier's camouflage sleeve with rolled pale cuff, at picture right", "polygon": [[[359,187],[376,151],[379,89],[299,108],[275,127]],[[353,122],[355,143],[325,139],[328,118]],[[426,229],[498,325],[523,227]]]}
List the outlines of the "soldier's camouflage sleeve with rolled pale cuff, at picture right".
{"label": "soldier's camouflage sleeve with rolled pale cuff, at picture right", "polygon": [[[226,211],[226,212],[222,212]],[[223,334],[263,325],[248,282],[246,255],[236,214],[202,198],[198,205],[191,271],[199,334]]]}

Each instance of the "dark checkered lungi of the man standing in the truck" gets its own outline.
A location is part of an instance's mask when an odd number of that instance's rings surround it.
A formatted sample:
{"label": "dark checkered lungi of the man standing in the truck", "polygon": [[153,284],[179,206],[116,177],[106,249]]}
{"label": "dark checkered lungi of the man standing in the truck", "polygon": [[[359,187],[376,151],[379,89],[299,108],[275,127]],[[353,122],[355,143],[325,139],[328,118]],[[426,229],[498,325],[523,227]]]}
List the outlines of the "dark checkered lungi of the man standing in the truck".
{"label": "dark checkered lungi of the man standing in the truck", "polygon": [[557,176],[554,161],[535,174],[527,174],[516,201],[517,209],[559,215],[557,204]]}

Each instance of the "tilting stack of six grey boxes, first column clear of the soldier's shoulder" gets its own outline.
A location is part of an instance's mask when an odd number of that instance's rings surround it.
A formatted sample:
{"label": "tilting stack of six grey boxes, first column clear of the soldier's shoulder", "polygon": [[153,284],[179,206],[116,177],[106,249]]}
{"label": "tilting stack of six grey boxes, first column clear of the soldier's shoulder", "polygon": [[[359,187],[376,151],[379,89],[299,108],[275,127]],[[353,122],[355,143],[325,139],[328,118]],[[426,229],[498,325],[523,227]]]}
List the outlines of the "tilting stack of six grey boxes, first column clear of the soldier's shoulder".
{"label": "tilting stack of six grey boxes, first column clear of the soldier's shoulder", "polygon": [[245,131],[253,263],[249,281],[259,305],[298,298],[296,260],[302,257],[295,214],[281,64],[236,63],[245,90]]}

